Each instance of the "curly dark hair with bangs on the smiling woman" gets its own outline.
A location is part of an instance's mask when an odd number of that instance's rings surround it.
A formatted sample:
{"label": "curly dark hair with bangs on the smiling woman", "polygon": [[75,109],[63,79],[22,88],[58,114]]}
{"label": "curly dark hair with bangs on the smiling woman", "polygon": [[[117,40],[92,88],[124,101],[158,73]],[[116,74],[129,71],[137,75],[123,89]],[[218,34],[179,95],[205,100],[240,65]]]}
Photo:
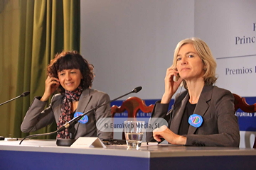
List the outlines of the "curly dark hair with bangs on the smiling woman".
{"label": "curly dark hair with bangs on the smiling woman", "polygon": [[[80,86],[82,89],[87,89],[92,86],[94,79],[93,65],[89,64],[77,51],[63,51],[55,55],[53,60],[47,67],[47,73],[50,77],[58,79],[58,72],[63,69],[79,69],[82,74]],[[63,86],[58,87],[58,91],[63,94],[65,89]]]}

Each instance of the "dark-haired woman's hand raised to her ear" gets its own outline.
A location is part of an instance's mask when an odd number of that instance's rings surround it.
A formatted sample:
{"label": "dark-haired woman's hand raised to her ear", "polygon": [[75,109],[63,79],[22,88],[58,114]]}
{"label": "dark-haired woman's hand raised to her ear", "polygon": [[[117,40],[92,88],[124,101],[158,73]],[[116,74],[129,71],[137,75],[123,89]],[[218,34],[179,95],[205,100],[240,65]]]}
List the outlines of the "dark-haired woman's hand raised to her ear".
{"label": "dark-haired woman's hand raised to her ear", "polygon": [[60,86],[59,80],[55,77],[48,76],[46,79],[46,89],[41,98],[41,101],[47,101],[50,95],[58,89],[58,86]]}

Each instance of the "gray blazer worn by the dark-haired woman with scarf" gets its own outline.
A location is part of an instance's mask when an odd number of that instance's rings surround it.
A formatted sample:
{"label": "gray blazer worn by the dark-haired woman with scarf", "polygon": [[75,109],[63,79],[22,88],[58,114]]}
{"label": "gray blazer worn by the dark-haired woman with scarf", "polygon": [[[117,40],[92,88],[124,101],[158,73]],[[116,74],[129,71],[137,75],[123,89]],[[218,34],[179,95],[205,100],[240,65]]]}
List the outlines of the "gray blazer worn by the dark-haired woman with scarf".
{"label": "gray blazer worn by the dark-haired woman with scarf", "polygon": [[[61,94],[54,95],[50,106],[46,109],[44,108],[47,102],[34,98],[21,124],[21,131],[33,132],[46,127],[46,125],[50,125],[54,120],[58,123],[63,98],[64,96]],[[110,101],[110,96],[108,96],[108,94],[94,89],[85,89],[82,91],[76,111],[85,113],[91,108],[95,108],[96,106],[107,103],[108,101]],[[99,137],[100,139],[107,140],[112,138],[112,132],[102,132],[96,128],[97,120],[100,118],[111,118],[110,104],[97,108],[96,111],[87,113],[87,116],[87,123],[75,124],[75,139],[78,139],[78,137]]]}

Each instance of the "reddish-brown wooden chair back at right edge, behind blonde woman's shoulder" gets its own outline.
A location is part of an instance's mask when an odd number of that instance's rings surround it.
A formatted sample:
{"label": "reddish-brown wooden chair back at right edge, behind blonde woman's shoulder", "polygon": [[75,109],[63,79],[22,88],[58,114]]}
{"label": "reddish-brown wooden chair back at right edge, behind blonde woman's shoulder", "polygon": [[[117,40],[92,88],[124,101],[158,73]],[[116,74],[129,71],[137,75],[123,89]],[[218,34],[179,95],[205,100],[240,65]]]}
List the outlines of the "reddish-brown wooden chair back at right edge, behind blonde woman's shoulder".
{"label": "reddish-brown wooden chair back at right edge, behind blonde woman's shoulder", "polygon": [[[255,113],[256,112],[256,103],[249,105],[245,98],[242,98],[241,96],[237,94],[233,94],[235,98],[235,111],[238,111],[238,108],[240,108],[242,111],[247,113]],[[255,143],[253,145],[253,148],[256,148],[256,137],[255,137]]]}

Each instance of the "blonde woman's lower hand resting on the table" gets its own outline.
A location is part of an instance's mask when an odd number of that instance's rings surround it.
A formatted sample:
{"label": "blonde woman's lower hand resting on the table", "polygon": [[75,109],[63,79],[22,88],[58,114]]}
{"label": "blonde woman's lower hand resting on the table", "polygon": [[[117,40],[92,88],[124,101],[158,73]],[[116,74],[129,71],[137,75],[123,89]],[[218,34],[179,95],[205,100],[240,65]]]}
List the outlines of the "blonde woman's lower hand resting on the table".
{"label": "blonde woman's lower hand resting on the table", "polygon": [[161,138],[164,138],[167,142],[173,145],[186,144],[186,137],[176,135],[174,132],[169,130],[166,125],[163,125],[160,128],[153,130],[153,137],[158,142],[161,142]]}

